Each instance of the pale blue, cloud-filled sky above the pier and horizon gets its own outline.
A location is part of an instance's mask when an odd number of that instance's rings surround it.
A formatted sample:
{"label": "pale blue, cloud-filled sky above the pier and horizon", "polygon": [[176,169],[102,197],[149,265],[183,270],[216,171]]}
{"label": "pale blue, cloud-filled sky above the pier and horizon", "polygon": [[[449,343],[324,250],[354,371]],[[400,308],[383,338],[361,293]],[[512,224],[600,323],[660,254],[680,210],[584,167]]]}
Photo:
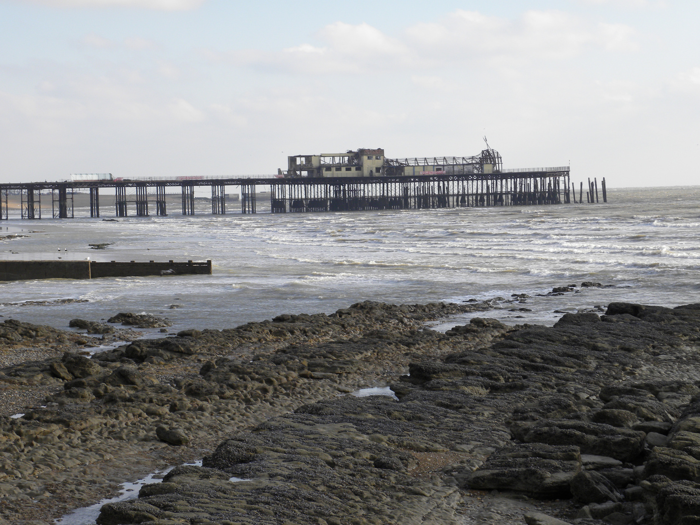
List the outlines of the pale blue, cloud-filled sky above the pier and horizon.
{"label": "pale blue, cloud-filled sky above the pier and horizon", "polygon": [[0,182],[384,148],[700,184],[696,0],[0,0]]}

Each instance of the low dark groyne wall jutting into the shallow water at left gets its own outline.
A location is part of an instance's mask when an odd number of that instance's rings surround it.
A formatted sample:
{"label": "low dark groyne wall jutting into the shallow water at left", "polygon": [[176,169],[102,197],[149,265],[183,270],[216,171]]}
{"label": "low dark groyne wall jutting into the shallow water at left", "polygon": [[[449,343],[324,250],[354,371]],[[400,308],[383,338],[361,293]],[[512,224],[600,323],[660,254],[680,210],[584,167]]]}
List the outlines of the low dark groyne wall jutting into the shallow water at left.
{"label": "low dark groyne wall jutting into the shallow water at left", "polygon": [[206,262],[94,262],[90,260],[3,260],[0,281],[29,279],[97,279],[148,275],[211,274],[211,260]]}

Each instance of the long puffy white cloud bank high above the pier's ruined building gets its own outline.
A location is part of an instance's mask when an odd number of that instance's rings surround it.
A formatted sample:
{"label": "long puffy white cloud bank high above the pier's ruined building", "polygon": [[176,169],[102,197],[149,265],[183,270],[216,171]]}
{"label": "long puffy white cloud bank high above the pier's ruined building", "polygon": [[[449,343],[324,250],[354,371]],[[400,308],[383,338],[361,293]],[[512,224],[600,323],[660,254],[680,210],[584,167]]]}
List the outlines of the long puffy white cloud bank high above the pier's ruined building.
{"label": "long puffy white cloud bank high above the pier's ruined building", "polygon": [[397,37],[366,23],[335,22],[316,36],[322,45],[302,43],[279,52],[209,52],[209,58],[292,74],[376,74],[477,63],[521,69],[570,59],[588,49],[637,49],[636,31],[627,25],[598,24],[555,10],[530,10],[510,20],[458,9],[439,22],[409,27]]}

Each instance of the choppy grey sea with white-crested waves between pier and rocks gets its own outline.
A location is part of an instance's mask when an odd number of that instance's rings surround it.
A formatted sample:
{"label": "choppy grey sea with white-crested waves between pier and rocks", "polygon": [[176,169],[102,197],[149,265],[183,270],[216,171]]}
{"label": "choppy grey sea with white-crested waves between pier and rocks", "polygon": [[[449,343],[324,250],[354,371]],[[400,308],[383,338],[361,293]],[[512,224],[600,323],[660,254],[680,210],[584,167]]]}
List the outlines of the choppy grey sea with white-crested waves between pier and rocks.
{"label": "choppy grey sea with white-crested waves between pier and rocks", "polygon": [[[700,302],[700,186],[610,189],[608,204],[346,213],[87,217],[0,223],[4,259],[207,260],[211,276],[0,283],[0,314],[66,327],[120,311],[167,316],[179,328],[230,328],[282,313],[361,300],[461,302],[513,293],[490,317],[551,325],[559,311],[626,300]],[[102,210],[102,218],[113,211]],[[88,244],[112,243],[105,250]],[[554,286],[609,288],[537,297]],[[50,304],[61,299],[87,300]],[[43,301],[49,304],[31,304]],[[177,308],[171,308],[176,305]],[[526,307],[531,311],[509,311]],[[484,314],[480,314],[484,315]],[[463,322],[450,319],[438,328]]]}

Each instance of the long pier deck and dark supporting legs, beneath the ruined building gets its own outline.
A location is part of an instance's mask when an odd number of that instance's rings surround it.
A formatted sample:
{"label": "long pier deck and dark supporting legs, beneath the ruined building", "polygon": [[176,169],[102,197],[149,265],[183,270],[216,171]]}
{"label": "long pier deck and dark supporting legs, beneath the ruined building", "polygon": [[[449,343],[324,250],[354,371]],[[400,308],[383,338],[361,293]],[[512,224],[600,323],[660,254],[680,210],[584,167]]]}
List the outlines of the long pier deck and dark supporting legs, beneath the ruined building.
{"label": "long pier deck and dark supporting legs, beneath the ruined building", "polygon": [[[368,177],[258,176],[230,179],[123,179],[108,181],[66,181],[0,184],[0,219],[8,219],[8,196],[20,196],[19,216],[40,219],[73,218],[73,200],[83,193],[90,198],[90,217],[107,211],[100,207],[100,195],[114,195],[109,216],[165,216],[167,190],[181,196],[176,213],[195,214],[195,188],[211,190],[211,214],[255,214],[259,195],[269,192],[265,208],[273,214],[363,211],[384,209],[435,209],[460,207],[527,206],[542,204],[594,203],[598,200],[598,181],[575,188],[568,166],[512,170],[498,173],[416,174]],[[226,201],[228,190],[239,190],[238,210]],[[578,191],[577,191],[578,190]],[[578,193],[578,195],[576,195]],[[603,202],[607,202],[605,179],[601,181]],[[586,199],[584,201],[584,198]],[[179,203],[180,204],[180,203]]]}

